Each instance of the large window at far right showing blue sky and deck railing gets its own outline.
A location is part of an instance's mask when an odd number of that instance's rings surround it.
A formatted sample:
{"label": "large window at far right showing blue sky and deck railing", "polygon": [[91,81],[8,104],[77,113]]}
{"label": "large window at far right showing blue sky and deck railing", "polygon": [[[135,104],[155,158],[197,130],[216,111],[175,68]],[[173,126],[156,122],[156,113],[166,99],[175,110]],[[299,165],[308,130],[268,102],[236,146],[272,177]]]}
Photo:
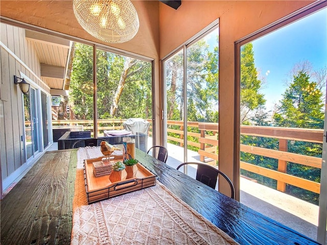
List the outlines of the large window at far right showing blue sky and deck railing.
{"label": "large window at far right showing blue sky and deck railing", "polygon": [[[327,78],[322,7],[309,7],[237,43],[240,201],[266,215],[278,208],[285,214],[272,218],[313,239],[325,188],[320,186]],[[258,208],[249,195],[267,207]],[[290,205],[308,211],[298,216]],[[296,226],[288,215],[313,225]]]}

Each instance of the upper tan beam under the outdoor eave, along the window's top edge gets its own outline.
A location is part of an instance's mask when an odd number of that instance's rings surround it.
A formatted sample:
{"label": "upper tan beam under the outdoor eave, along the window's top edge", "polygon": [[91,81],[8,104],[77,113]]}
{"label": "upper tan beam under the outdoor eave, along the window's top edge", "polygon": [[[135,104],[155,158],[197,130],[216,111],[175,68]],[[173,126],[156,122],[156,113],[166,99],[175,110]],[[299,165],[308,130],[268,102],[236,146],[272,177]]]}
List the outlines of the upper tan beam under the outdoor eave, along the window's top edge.
{"label": "upper tan beam under the outdoor eave, along the window's top edge", "polygon": [[41,42],[41,43],[46,43],[46,44],[52,44],[64,48],[69,48],[70,41],[60,38],[60,37],[55,37],[49,34],[44,34],[40,32],[33,32],[30,30],[25,30],[26,38],[36,41],[36,42]]}

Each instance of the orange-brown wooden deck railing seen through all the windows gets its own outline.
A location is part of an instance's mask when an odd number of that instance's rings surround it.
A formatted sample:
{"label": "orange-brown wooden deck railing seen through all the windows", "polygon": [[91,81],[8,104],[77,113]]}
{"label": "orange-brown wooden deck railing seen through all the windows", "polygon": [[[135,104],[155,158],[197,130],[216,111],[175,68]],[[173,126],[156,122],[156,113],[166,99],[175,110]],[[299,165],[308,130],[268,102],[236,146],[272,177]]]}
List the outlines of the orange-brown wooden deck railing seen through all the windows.
{"label": "orange-brown wooden deck railing seen through all the windows", "polygon": [[[100,131],[110,129],[122,129],[122,123],[126,119],[102,119],[98,120],[98,135]],[[148,119],[151,122],[151,119]],[[53,125],[84,125],[84,130],[92,131],[93,120],[53,120]],[[167,139],[175,141],[180,146],[184,144],[184,122],[167,121]],[[201,161],[218,160],[218,124],[209,122],[189,121],[188,128],[196,132],[188,132],[188,136],[194,136],[196,140],[187,140],[188,145],[198,149]],[[149,130],[149,135],[152,132]],[[172,136],[175,135],[175,136]],[[241,144],[242,152],[270,157],[278,160],[278,169],[272,170],[247,162],[240,162],[241,169],[251,171],[277,181],[277,189],[285,191],[286,184],[297,186],[315,193],[320,192],[320,183],[295,177],[286,173],[287,163],[293,162],[311,167],[321,168],[321,158],[311,157],[287,152],[288,140],[322,143],[323,130],[320,129],[297,129],[279,127],[241,126],[241,135],[275,138],[279,141],[278,150],[260,148]],[[198,142],[195,142],[198,141]]]}

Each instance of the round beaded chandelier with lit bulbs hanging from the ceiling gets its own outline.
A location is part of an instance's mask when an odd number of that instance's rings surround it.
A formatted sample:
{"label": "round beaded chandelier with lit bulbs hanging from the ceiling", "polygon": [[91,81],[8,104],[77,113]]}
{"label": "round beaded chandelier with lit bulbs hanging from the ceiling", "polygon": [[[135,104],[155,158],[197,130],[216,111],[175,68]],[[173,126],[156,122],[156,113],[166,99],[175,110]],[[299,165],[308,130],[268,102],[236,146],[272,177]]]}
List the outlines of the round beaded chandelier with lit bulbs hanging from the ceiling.
{"label": "round beaded chandelier with lit bulbs hanging from the ceiling", "polygon": [[109,43],[131,40],[139,22],[129,0],[74,0],[74,14],[83,29]]}

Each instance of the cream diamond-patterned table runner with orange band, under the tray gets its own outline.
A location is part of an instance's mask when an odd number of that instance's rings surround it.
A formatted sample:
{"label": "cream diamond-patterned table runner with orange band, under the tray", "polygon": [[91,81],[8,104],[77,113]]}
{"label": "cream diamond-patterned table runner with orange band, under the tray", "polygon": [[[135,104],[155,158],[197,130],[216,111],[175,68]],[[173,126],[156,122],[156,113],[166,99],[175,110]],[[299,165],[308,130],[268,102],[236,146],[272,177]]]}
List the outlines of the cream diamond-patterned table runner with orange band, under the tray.
{"label": "cream diamond-patterned table runner with orange band, under the tray", "polygon": [[71,244],[238,244],[158,181],[87,205],[83,160],[98,156],[78,150]]}

